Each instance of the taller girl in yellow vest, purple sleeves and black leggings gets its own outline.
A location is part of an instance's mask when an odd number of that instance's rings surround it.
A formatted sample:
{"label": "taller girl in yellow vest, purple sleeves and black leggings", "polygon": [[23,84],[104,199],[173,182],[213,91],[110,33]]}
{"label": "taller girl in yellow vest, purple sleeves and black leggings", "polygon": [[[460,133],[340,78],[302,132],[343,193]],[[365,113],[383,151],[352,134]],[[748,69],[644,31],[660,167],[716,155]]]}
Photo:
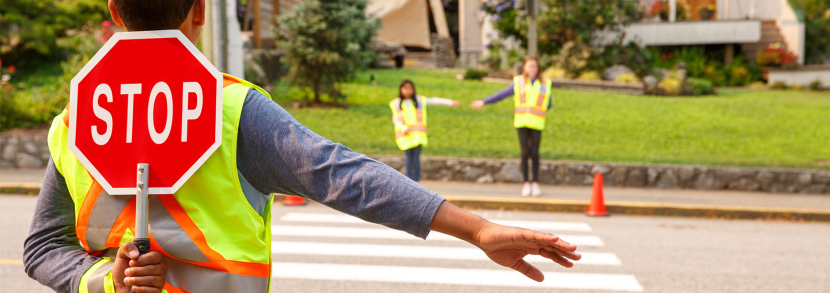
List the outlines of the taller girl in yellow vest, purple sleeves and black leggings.
{"label": "taller girl in yellow vest, purple sleeves and black leggings", "polygon": [[[542,195],[539,188],[539,144],[544,130],[545,115],[553,101],[550,98],[549,80],[539,76],[539,61],[535,56],[526,56],[522,74],[513,77],[513,84],[500,90],[484,100],[476,100],[470,105],[472,109],[481,109],[486,104],[504,100],[513,96],[515,107],[513,126],[519,133],[521,148],[521,172],[525,178],[521,195],[524,197]],[[529,180],[527,160],[533,161],[533,178]]]}

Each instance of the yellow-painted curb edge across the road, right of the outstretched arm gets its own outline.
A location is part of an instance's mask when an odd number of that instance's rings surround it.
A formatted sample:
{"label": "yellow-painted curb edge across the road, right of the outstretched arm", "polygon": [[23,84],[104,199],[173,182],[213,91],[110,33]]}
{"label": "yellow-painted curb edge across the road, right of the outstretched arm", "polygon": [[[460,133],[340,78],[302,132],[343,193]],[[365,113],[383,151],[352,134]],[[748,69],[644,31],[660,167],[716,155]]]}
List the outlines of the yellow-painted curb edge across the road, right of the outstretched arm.
{"label": "yellow-painted curb edge across the road, right of the outstretched arm", "polygon": [[[483,208],[535,212],[587,212],[588,201],[542,198],[475,198],[445,196],[462,208]],[[669,217],[720,217],[830,222],[830,210],[808,208],[725,207],[671,203],[605,202],[609,213]]]}

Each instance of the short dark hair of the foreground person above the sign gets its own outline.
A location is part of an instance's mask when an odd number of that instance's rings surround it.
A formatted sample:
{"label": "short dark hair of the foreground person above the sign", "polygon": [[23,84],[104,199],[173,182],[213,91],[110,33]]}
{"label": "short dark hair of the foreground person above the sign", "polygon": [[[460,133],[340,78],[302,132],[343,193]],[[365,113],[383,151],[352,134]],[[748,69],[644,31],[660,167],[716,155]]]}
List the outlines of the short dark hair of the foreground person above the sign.
{"label": "short dark hair of the foreground person above the sign", "polygon": [[182,26],[196,0],[115,0],[129,31],[173,30]]}

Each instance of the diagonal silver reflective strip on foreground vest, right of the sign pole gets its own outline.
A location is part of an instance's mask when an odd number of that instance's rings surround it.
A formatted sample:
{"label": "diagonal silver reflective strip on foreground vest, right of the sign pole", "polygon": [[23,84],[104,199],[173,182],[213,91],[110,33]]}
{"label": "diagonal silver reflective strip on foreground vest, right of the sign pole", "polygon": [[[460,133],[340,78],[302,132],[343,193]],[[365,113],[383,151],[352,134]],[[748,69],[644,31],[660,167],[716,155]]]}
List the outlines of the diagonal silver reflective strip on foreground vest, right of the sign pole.
{"label": "diagonal silver reflective strip on foreground vest, right of the sign pole", "polygon": [[209,261],[182,227],[178,226],[173,216],[170,216],[158,197],[151,195],[148,203],[149,232],[161,249],[185,261]]}

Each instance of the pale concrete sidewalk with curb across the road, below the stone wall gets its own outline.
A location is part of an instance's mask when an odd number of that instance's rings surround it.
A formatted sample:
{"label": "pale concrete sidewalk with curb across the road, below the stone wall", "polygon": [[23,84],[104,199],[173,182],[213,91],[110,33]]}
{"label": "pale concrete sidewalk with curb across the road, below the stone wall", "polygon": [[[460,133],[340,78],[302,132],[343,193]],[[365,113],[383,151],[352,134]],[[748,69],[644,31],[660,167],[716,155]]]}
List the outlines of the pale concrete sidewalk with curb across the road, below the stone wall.
{"label": "pale concrete sidewalk with curb across the road, below the stone wall", "polygon": [[[43,169],[0,169],[0,193],[37,194]],[[422,185],[466,208],[584,212],[590,187],[543,185],[540,198],[522,198],[521,184],[425,181]],[[686,217],[740,217],[830,221],[830,197],[657,188],[604,188],[608,212]]]}

